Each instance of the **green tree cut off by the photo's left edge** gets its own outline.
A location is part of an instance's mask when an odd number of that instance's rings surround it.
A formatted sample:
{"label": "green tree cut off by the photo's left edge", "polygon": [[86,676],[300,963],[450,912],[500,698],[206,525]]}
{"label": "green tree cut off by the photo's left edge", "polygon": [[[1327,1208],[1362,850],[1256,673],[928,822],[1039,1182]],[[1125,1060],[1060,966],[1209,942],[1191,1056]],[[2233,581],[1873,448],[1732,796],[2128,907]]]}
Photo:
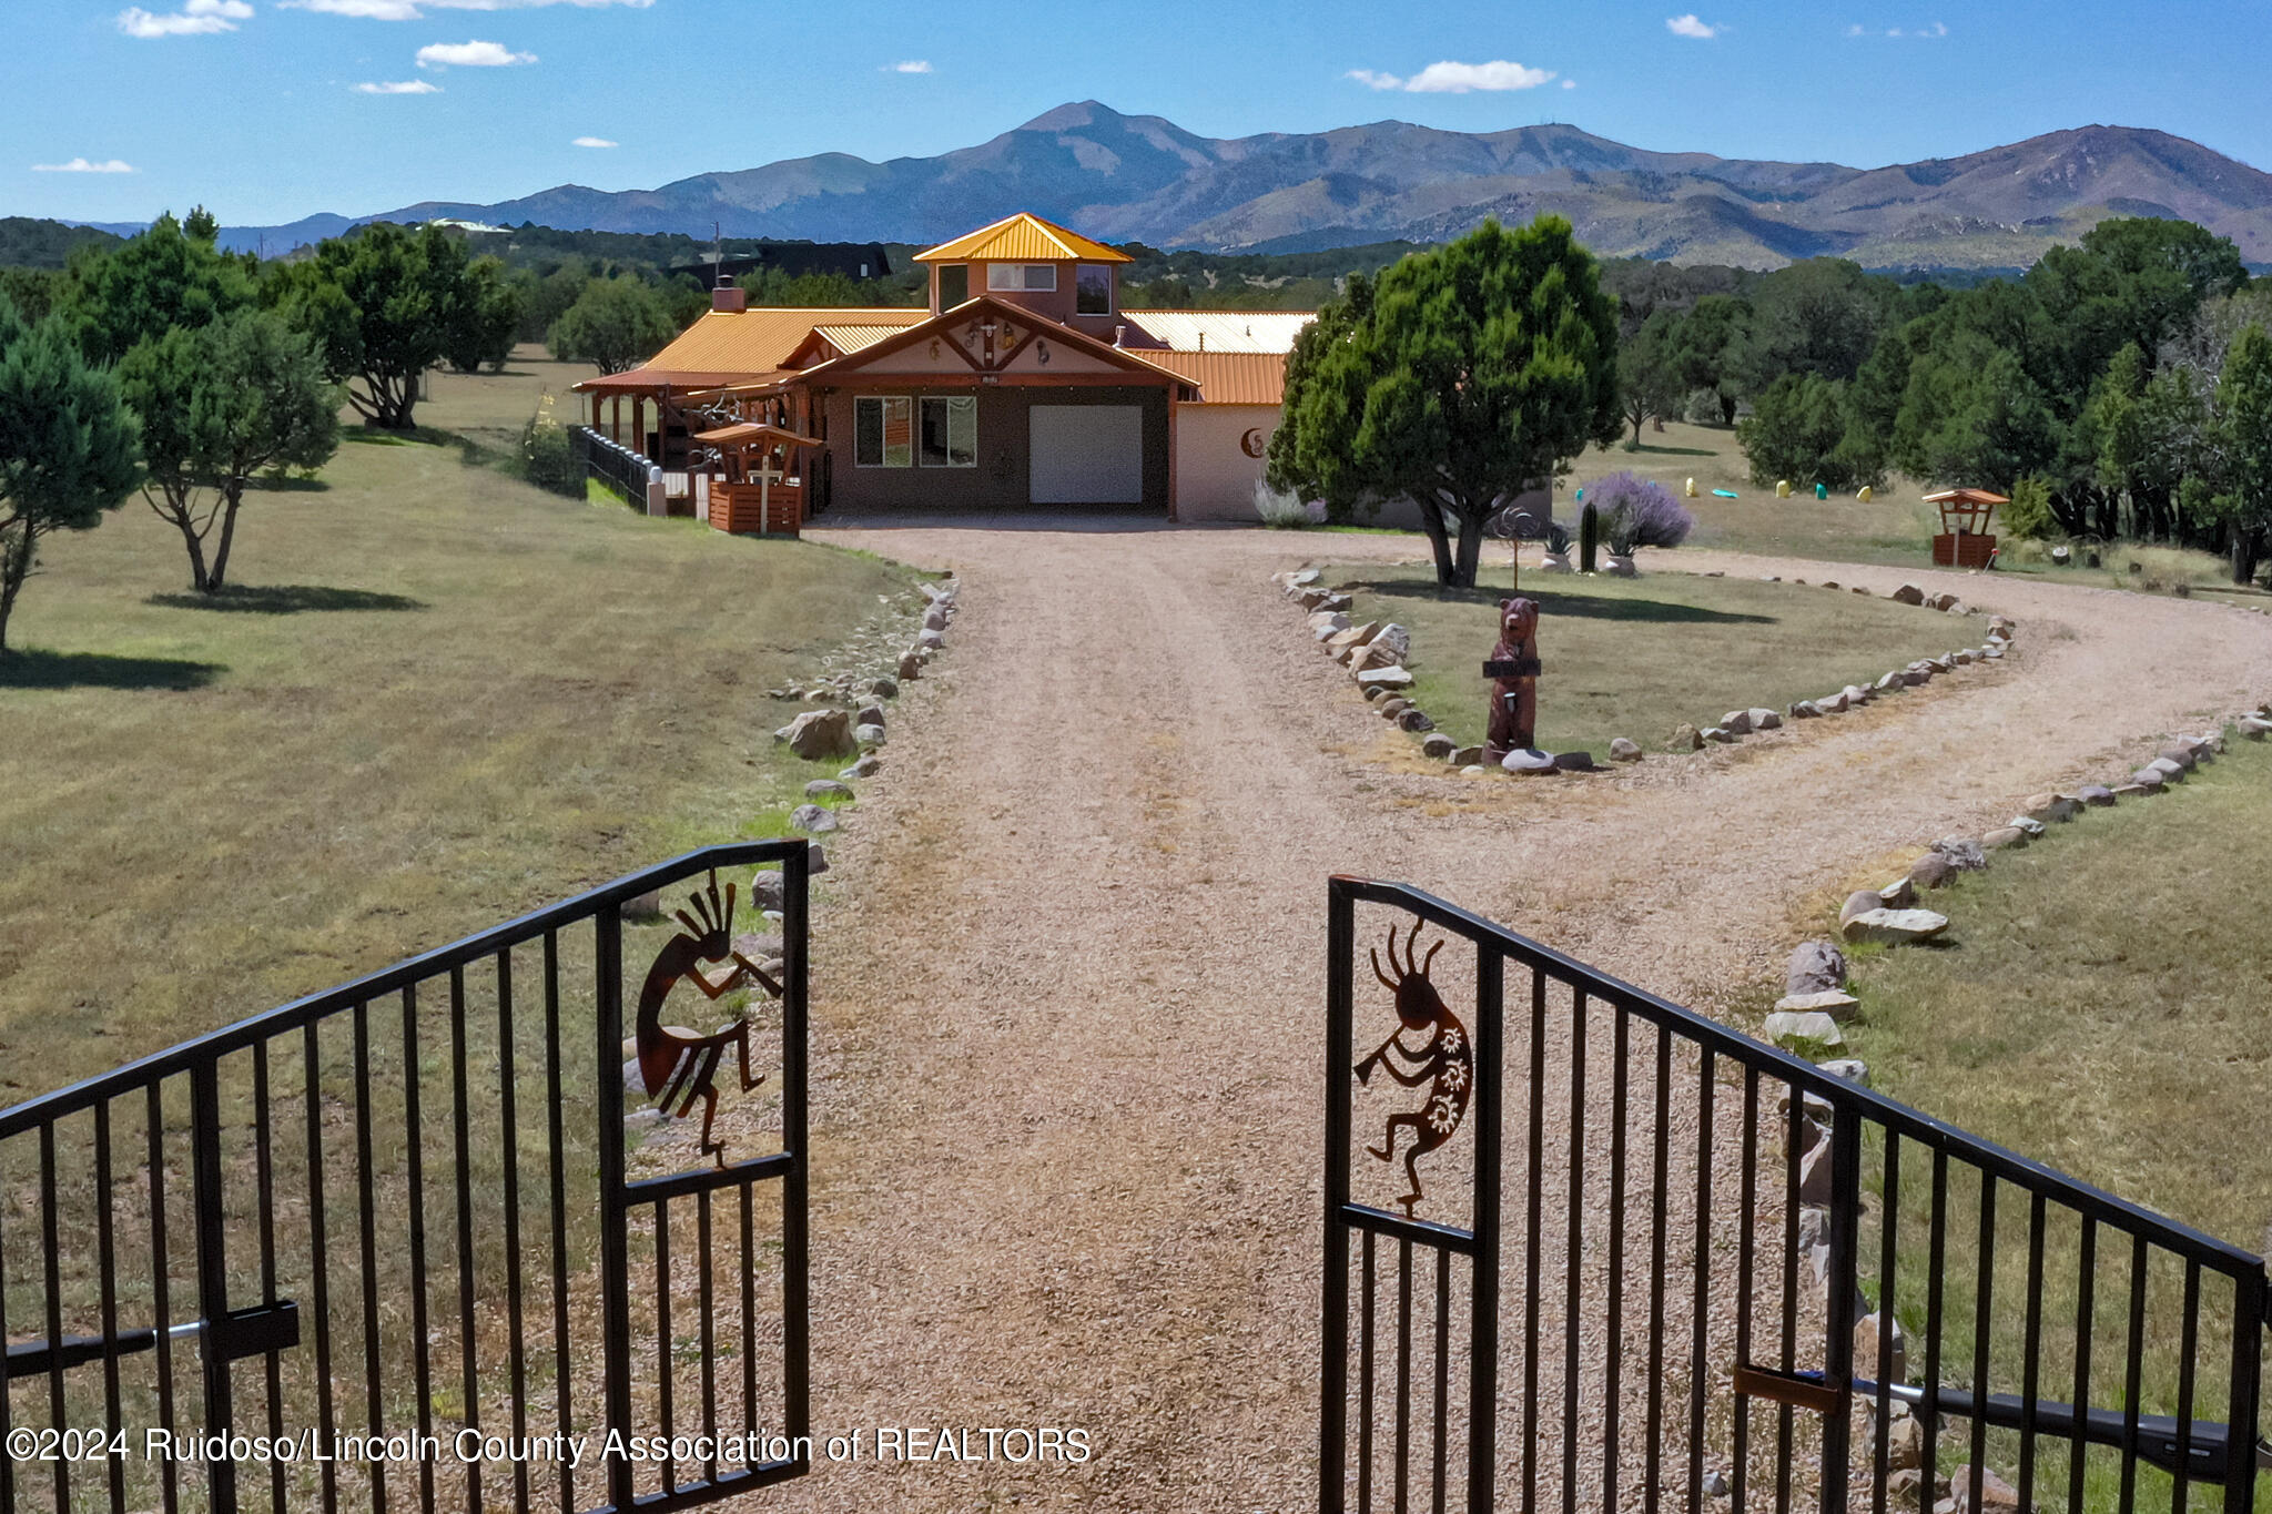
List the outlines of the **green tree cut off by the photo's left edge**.
{"label": "green tree cut off by the photo's left edge", "polygon": [[0,656],[39,545],[89,531],[134,493],[134,415],[70,325],[25,327],[0,302]]}

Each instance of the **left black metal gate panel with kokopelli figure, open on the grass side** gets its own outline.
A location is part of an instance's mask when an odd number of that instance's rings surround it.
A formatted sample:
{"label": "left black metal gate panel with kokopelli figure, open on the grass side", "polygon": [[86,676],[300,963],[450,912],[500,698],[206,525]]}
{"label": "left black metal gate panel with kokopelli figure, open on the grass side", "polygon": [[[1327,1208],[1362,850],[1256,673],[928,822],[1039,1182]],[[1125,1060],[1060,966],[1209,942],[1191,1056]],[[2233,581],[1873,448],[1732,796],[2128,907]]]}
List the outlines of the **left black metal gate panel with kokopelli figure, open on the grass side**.
{"label": "left black metal gate panel with kokopelli figure, open on the grass side", "polygon": [[0,1112],[0,1507],[807,1471],[807,856],[695,851]]}

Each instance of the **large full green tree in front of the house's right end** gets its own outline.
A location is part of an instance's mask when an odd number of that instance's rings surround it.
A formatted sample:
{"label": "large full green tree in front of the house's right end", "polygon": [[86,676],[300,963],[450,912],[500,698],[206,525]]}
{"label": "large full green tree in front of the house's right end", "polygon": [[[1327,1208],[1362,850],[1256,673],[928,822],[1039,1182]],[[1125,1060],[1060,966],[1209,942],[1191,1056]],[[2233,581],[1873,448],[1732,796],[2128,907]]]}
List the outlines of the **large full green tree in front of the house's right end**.
{"label": "large full green tree in front of the house's right end", "polygon": [[1561,216],[1486,220],[1393,263],[1368,316],[1331,331],[1315,363],[1288,365],[1300,445],[1277,481],[1413,499],[1440,583],[1472,588],[1493,513],[1618,438],[1618,302]]}

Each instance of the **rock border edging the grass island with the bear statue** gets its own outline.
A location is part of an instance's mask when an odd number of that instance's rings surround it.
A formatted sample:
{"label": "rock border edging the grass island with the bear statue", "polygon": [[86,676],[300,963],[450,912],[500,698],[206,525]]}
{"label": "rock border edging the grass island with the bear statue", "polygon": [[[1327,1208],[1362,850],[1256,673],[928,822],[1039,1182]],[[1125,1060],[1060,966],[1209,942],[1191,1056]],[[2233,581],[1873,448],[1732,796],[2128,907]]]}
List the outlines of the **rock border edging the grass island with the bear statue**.
{"label": "rock border edging the grass island with the bear statue", "polygon": [[[1702,574],[1706,579],[1727,577],[1724,572]],[[1356,676],[1359,690],[1372,701],[1375,710],[1384,720],[1393,720],[1397,729],[1411,731],[1422,738],[1420,751],[1431,758],[1443,758],[1447,765],[1459,767],[1461,774],[1490,772],[1484,765],[1481,747],[1461,747],[1443,731],[1436,731],[1436,722],[1420,710],[1404,690],[1413,685],[1413,674],[1404,667],[1411,656],[1411,631],[1395,622],[1368,622],[1363,626],[1350,624],[1350,608],[1354,599],[1350,595],[1325,588],[1322,567],[1300,567],[1293,572],[1275,572],[1270,581],[1279,586],[1288,599],[1300,602],[1309,613],[1311,636],[1325,645],[1327,654],[1336,663],[1347,667]],[[1781,583],[1781,574],[1761,574],[1763,583]],[[1806,579],[1793,579],[1793,586],[1804,586]],[[1824,581],[1822,588],[1838,588],[1836,581]],[[1849,592],[1868,595],[1868,588],[1858,583]],[[1904,583],[1902,588],[1886,595],[1895,604],[1915,604],[1947,615],[1972,615],[1974,611],[1956,595],[1927,595],[1915,583]],[[1822,715],[1845,715],[1847,710],[1858,710],[1879,695],[1899,692],[1904,688],[1920,688],[1933,676],[1945,672],[1956,672],[1958,667],[1970,667],[1974,663],[2002,661],[2013,638],[2018,638],[2020,626],[2008,615],[1993,615],[1988,620],[1988,636],[1981,638],[1979,647],[1958,647],[1945,651],[1936,658],[1918,658],[1906,667],[1895,667],[1881,674],[1874,683],[1847,683],[1836,695],[1824,695],[1818,699],[1799,699],[1797,704],[1774,710],[1768,706],[1754,706],[1745,710],[1729,710],[1713,726],[1681,724],[1672,731],[1668,751],[1688,754],[1702,751],[1706,742],[1734,745],[1745,735],[1759,731],[1777,731],[1784,720],[1815,720]],[[1613,763],[1638,763],[1643,756],[1640,742],[1631,738],[1615,735],[1609,742],[1609,758]],[[1540,760],[1534,767],[1509,769],[1520,774],[1543,774],[1543,772],[1597,772],[1590,751],[1561,751],[1552,758]]]}

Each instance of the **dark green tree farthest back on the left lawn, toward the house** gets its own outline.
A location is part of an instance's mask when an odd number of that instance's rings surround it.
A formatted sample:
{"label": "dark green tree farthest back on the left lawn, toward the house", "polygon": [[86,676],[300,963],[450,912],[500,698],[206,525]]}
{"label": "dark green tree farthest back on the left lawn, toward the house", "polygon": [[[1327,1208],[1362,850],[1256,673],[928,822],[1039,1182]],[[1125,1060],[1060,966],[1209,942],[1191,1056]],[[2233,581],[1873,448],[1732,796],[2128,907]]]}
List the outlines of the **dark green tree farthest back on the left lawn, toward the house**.
{"label": "dark green tree farthest back on the left lawn, toward the house", "polygon": [[316,338],[325,372],[375,427],[407,431],[418,377],[443,359],[463,309],[466,250],[441,227],[375,222],[282,270],[273,297]]}

